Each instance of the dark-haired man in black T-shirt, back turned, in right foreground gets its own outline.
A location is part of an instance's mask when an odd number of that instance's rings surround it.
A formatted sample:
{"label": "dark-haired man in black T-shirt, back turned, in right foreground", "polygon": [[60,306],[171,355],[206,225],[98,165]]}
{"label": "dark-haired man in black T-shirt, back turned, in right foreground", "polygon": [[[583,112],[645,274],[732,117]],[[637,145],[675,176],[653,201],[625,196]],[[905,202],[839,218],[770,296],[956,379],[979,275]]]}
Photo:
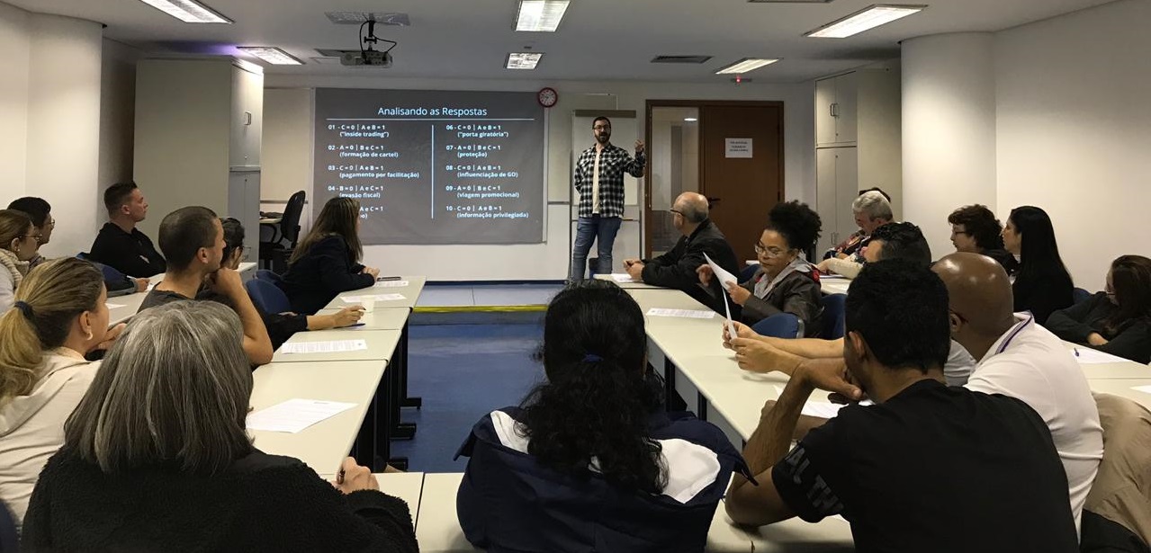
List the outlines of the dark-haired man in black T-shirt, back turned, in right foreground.
{"label": "dark-haired man in black T-shirt, back turned, in right foreground", "polygon": [[844,390],[839,367],[801,366],[744,448],[759,485],[734,477],[732,520],[841,514],[864,552],[1077,552],[1046,425],[1017,399],[945,385],[947,327],[936,275],[869,263],[847,297],[843,355],[876,405],[844,407],[788,453],[811,392]]}

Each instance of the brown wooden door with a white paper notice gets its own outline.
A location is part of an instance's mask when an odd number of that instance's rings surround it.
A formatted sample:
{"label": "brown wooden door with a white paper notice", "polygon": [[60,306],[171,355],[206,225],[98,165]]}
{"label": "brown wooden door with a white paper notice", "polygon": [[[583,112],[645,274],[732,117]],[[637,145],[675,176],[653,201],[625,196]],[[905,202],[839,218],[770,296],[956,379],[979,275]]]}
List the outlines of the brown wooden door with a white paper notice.
{"label": "brown wooden door with a white paper notice", "polygon": [[768,212],[784,198],[783,105],[702,106],[700,143],[700,192],[711,200],[711,220],[738,259],[755,259]]}

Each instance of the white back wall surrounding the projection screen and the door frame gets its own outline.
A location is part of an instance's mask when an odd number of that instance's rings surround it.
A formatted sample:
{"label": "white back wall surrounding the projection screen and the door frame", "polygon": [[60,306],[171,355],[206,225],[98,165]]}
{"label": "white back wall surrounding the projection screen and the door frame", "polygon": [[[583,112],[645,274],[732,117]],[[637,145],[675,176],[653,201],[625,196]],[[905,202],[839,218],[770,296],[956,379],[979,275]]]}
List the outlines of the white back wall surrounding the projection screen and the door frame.
{"label": "white back wall surrounding the projection screen and the door frame", "polygon": [[[511,80],[452,80],[452,79],[390,79],[387,71],[365,77],[310,77],[268,75],[269,89],[361,87],[410,90],[506,90],[535,91],[551,86],[559,93],[559,102],[550,109],[548,129],[548,201],[547,241],[535,245],[505,246],[368,246],[365,262],[381,267],[389,274],[427,275],[433,281],[501,281],[501,279],[561,279],[567,271],[570,230],[566,225],[571,200],[571,112],[574,109],[631,109],[638,114],[637,135],[645,128],[648,99],[725,99],[725,100],[782,100],[785,102],[785,190],[787,199],[811,202],[815,199],[815,155],[811,113],[814,89],[811,84],[755,85],[745,84],[673,84],[627,82],[511,82]],[[274,195],[288,190],[312,190],[311,171],[282,171],[276,160],[285,156],[312,156],[311,139],[276,143],[270,131],[275,125],[297,126],[302,123],[283,118],[304,118],[312,124],[311,103],[306,112],[281,112],[273,98],[266,97],[265,116],[269,131],[264,145],[265,171],[283,175],[277,179]],[[288,106],[291,103],[289,102]],[[280,105],[280,107],[287,107]],[[276,121],[280,118],[280,121]],[[273,152],[275,147],[277,152]],[[281,149],[289,148],[289,149]],[[261,198],[270,199],[269,193]]]}

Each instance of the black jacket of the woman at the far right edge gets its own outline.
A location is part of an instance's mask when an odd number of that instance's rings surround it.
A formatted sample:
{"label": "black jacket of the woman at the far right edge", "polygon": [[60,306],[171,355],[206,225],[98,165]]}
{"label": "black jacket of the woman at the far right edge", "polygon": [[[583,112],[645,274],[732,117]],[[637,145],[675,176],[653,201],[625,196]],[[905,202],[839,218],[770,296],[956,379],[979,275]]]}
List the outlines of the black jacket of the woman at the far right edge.
{"label": "black jacket of the woman at the far right edge", "polygon": [[1106,293],[1097,292],[1072,307],[1052,313],[1044,327],[1061,339],[1083,345],[1088,345],[1088,335],[1098,332],[1108,341],[1090,347],[1137,363],[1151,362],[1151,321],[1127,321],[1115,333],[1103,331],[1103,321],[1116,309],[1119,307],[1111,302]]}

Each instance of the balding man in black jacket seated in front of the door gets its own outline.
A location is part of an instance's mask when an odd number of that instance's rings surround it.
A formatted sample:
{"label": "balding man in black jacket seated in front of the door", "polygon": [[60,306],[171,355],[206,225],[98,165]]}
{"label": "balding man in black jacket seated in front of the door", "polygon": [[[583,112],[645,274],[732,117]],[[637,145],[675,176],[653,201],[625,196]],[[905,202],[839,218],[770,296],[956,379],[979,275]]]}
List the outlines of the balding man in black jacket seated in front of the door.
{"label": "balding man in black jacket seated in front of the door", "polygon": [[[739,274],[739,261],[719,228],[708,218],[708,199],[696,192],[684,192],[671,207],[672,223],[683,237],[670,252],[649,260],[624,260],[627,274],[637,281],[655,286],[679,289],[701,304],[712,305],[723,294],[719,279],[712,278],[709,294],[695,272],[707,264],[703,254],[733,275]],[[738,314],[732,314],[738,317]]]}

